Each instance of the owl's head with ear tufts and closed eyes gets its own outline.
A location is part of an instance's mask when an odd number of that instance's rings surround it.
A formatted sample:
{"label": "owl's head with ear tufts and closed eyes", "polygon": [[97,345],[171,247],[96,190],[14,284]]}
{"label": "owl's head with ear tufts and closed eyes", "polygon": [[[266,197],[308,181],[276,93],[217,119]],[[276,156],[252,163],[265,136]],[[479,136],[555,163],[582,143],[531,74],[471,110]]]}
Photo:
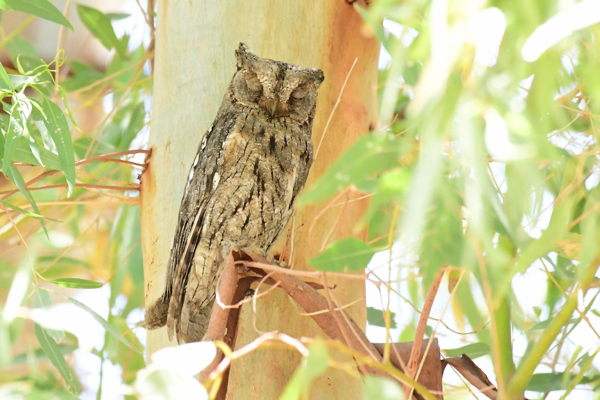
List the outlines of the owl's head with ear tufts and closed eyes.
{"label": "owl's head with ear tufts and closed eyes", "polygon": [[271,118],[313,118],[323,71],[260,58],[244,43],[235,53],[238,71],[231,89],[236,101],[259,106]]}

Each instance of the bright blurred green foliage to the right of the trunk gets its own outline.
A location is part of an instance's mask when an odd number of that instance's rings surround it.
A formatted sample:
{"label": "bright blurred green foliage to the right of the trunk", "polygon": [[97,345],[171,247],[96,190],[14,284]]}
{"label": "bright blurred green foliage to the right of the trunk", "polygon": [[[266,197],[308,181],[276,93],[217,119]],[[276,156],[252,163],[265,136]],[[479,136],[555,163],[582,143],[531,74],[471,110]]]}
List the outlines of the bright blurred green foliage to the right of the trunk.
{"label": "bright blurred green foliage to the right of the trunk", "polygon": [[[348,188],[371,197],[358,227],[368,225],[371,252],[390,254],[391,284],[379,278],[383,304],[400,296],[419,309],[446,268],[448,291],[437,297],[454,318],[430,329],[462,336],[466,345],[448,356],[491,357],[500,398],[591,395],[600,387],[598,4],[380,0],[356,8],[385,50],[383,128],[356,142],[301,201]],[[345,262],[330,261],[316,267]],[[413,322],[403,340],[418,317],[404,318]]]}

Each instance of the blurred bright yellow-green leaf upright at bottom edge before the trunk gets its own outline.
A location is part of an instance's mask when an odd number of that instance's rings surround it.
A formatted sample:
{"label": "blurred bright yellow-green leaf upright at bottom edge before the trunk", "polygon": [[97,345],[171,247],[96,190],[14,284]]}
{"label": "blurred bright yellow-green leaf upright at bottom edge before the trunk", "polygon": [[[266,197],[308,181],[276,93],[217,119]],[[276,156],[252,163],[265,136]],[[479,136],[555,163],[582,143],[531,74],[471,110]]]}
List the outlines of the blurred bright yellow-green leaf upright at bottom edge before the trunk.
{"label": "blurred bright yellow-green leaf upright at bottom edge before the trunk", "polygon": [[314,378],[323,374],[329,368],[329,353],[322,341],[314,342],[309,349],[308,357],[288,381],[280,400],[298,400],[301,395],[308,398],[308,392]]}

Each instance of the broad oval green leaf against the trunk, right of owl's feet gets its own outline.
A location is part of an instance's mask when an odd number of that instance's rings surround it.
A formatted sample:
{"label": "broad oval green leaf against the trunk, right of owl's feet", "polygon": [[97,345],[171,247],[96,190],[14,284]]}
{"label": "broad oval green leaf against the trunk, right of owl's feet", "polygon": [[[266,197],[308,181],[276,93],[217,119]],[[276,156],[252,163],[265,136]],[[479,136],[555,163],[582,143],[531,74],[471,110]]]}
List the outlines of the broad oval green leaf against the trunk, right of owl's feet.
{"label": "broad oval green leaf against the trunk, right of owl's feet", "polygon": [[375,249],[356,237],[346,237],[333,243],[321,254],[309,260],[314,269],[331,272],[360,271],[367,267]]}

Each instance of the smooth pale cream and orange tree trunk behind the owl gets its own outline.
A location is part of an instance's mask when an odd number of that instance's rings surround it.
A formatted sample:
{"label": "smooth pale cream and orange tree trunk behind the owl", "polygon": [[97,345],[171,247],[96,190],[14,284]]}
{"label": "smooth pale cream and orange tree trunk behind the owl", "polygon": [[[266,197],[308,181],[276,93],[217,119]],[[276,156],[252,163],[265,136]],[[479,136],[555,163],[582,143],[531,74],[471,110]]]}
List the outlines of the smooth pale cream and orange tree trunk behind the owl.
{"label": "smooth pale cream and orange tree trunk behind the owl", "polygon": [[[358,136],[375,126],[377,110],[379,44],[364,34],[360,17],[343,0],[163,0],[158,2],[157,17],[154,109],[149,140],[152,158],[142,178],[146,303],[164,290],[164,273],[188,169],[235,72],[234,50],[240,41],[259,56],[319,67],[325,72],[313,127],[315,148],[323,140],[307,187]],[[355,58],[358,62],[323,137],[325,124]],[[340,201],[349,199],[350,195]],[[352,201],[332,207],[310,230],[324,206],[319,204],[296,212],[295,268],[308,268],[308,258],[319,252],[326,241],[352,234],[367,203]],[[281,237],[277,248],[281,248],[285,239]],[[364,299],[364,282],[330,279],[328,284],[337,284],[332,293],[340,305]],[[347,311],[359,326],[364,326],[364,300]],[[256,313],[250,306],[244,306],[238,348],[260,335],[254,326],[262,332],[278,330],[295,337],[323,336],[310,317],[298,314],[298,308],[281,290],[260,299]],[[167,345],[171,343],[166,329],[148,331],[149,354]],[[332,356],[351,362],[338,354]],[[236,360],[229,378],[228,398],[278,398],[298,363],[295,351],[282,348],[258,350]],[[362,398],[362,383],[358,374],[352,376],[330,369],[313,384],[310,398]]]}

